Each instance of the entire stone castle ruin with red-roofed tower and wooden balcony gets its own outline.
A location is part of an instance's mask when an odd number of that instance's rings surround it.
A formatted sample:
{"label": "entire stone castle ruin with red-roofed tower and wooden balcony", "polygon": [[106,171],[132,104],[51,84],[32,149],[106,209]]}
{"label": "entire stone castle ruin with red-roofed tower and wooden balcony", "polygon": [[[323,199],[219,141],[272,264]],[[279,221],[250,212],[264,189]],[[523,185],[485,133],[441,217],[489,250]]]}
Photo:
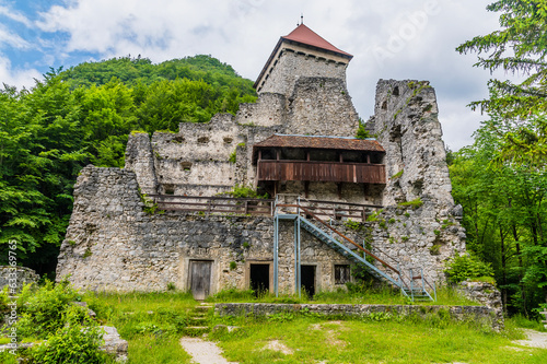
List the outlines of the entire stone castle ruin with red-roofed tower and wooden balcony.
{"label": "entire stone castle ruin with red-roofed tower and wooden balcony", "polygon": [[[313,294],[353,280],[352,266],[400,287],[443,281],[465,233],[434,91],[381,80],[366,122],[375,138],[354,139],[351,58],[301,24],[276,45],[255,104],[177,133],[132,133],[125,168],[82,169],[57,277],[197,298],[226,287]],[[222,195],[234,186],[276,200]]]}

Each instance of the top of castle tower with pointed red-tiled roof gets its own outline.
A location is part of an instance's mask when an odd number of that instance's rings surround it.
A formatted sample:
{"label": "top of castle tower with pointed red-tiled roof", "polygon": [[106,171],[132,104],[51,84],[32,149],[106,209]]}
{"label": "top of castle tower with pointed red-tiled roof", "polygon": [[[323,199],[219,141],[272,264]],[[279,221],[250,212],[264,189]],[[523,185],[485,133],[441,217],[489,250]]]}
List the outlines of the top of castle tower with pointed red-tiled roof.
{"label": "top of castle tower with pointed red-tiled roof", "polygon": [[259,94],[269,92],[289,97],[299,77],[334,78],[346,83],[346,68],[351,58],[353,56],[300,24],[289,35],[279,38],[255,82],[255,89]]}

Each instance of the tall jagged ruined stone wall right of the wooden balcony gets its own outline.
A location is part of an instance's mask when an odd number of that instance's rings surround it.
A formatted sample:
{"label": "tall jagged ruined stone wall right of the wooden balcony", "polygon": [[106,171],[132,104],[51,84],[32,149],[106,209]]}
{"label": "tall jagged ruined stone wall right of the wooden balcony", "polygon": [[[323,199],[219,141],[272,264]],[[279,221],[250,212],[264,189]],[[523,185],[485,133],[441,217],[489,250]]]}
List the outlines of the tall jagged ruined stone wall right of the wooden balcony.
{"label": "tall jagged ruined stone wall right of the wooden balcony", "polygon": [[438,113],[429,82],[379,81],[372,126],[386,151],[386,208],[375,216],[371,238],[405,269],[422,267],[444,281],[443,262],[465,251],[465,230],[451,195]]}

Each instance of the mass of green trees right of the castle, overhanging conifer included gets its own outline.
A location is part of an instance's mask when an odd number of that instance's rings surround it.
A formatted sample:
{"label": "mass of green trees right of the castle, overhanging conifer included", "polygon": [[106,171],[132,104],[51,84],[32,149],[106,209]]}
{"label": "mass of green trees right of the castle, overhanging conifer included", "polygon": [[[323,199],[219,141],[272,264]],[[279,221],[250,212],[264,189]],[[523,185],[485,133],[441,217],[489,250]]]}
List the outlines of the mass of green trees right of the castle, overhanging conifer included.
{"label": "mass of green trees right of the castle, overhanging conifer included", "polygon": [[489,98],[470,104],[490,119],[451,173],[469,246],[492,262],[505,300],[526,314],[547,302],[547,0],[499,0],[487,10],[500,12],[500,30],[456,50],[476,51],[476,67],[519,81],[490,80]]}

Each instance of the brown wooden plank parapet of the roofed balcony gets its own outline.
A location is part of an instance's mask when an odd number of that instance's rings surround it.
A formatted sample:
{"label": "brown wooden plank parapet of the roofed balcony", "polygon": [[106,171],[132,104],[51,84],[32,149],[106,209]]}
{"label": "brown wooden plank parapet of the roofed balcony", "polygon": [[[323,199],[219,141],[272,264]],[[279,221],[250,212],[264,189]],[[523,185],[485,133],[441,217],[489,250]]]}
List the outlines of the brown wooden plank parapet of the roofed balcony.
{"label": "brown wooden plank parapet of the roofed balcony", "polygon": [[383,164],[259,160],[258,180],[303,180],[384,184]]}

